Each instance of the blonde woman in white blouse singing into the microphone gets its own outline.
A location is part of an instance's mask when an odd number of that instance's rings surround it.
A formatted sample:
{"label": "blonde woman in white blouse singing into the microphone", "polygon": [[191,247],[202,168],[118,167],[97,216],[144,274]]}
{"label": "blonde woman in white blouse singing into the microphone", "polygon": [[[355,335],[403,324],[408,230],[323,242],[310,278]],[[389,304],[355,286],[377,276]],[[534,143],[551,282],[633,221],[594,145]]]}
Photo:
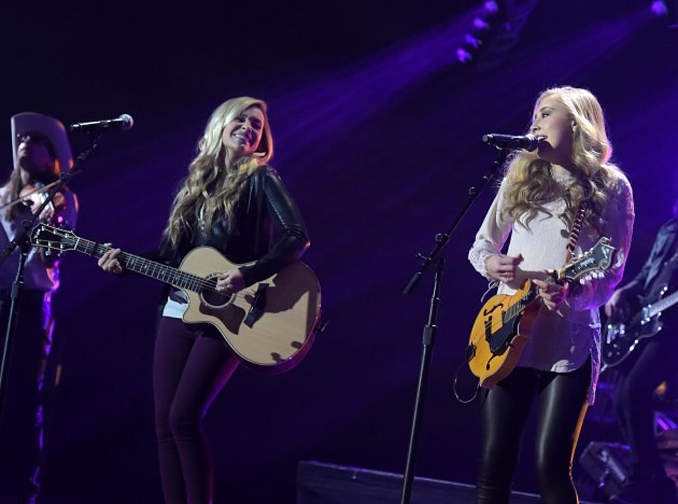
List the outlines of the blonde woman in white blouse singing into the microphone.
{"label": "blonde woman in white blouse singing into the microphone", "polygon": [[[533,109],[531,133],[538,149],[508,161],[468,255],[479,273],[499,283],[500,294],[513,294],[530,279],[542,301],[518,366],[489,390],[483,406],[476,500],[483,504],[508,503],[533,402],[539,413],[535,459],[542,501],[578,502],[571,464],[600,370],[598,307],[621,280],[634,221],[631,187],[610,164],[603,111],[592,93],[573,87],[544,91]],[[565,264],[569,231],[583,202],[585,218],[574,252],[607,236],[616,259],[603,276],[577,289],[550,285],[545,270]]]}

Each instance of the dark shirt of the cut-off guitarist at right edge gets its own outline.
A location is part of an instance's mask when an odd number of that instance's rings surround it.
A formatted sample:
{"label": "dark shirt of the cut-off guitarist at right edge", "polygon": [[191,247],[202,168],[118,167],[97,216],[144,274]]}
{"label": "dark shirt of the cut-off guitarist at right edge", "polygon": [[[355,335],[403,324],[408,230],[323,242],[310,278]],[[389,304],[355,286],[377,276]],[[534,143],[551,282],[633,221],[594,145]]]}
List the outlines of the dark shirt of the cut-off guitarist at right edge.
{"label": "dark shirt of the cut-off guitarist at right edge", "polygon": [[647,298],[656,298],[664,285],[670,290],[678,287],[674,275],[678,266],[678,218],[666,222],[657,233],[652,251],[643,269],[625,287],[633,294]]}

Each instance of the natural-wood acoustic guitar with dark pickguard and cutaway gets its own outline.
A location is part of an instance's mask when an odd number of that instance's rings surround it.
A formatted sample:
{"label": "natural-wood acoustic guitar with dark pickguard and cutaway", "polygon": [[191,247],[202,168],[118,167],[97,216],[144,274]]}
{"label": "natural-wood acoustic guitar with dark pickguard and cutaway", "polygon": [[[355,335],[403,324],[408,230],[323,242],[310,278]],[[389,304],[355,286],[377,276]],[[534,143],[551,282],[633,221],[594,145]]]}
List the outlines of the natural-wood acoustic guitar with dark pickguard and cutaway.
{"label": "natural-wood acoustic guitar with dark pickguard and cutaway", "polygon": [[[78,251],[93,258],[111,249],[46,224],[35,228],[31,243],[56,251]],[[320,314],[320,286],[313,271],[302,262],[289,264],[271,278],[228,295],[217,292],[216,277],[239,265],[209,246],[187,253],[178,268],[126,252],[120,253],[118,260],[128,271],[184,291],[188,307],[183,321],[217,327],[234,354],[257,371],[286,371],[311,346]]]}

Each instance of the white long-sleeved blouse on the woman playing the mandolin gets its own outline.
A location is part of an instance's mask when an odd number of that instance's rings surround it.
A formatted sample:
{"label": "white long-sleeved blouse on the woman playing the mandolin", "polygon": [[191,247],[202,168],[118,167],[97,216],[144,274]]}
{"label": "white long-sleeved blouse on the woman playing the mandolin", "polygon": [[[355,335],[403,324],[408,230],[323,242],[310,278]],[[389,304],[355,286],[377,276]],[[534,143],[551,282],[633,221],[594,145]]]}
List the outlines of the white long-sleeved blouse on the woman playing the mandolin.
{"label": "white long-sleeved blouse on the woman playing the mandolin", "polygon": [[[559,183],[567,186],[574,181],[569,175],[553,175]],[[490,206],[487,215],[468,253],[473,267],[486,278],[486,259],[502,253],[508,243],[508,255],[522,254],[524,260],[517,267],[513,282],[500,283],[497,294],[515,294],[526,279],[544,278],[544,269],[558,269],[565,264],[565,247],[569,228],[558,218],[565,210],[565,201],[558,199],[544,208],[551,215],[539,212],[528,226],[513,222],[504,215],[506,206],[506,181]],[[518,362],[525,366],[544,371],[570,372],[582,366],[590,356],[592,379],[589,387],[589,404],[594,402],[598,374],[601,368],[601,321],[598,307],[612,295],[619,284],[631,244],[634,221],[633,195],[629,181],[619,172],[616,191],[610,195],[602,217],[603,235],[610,237],[616,255],[612,267],[604,274],[590,276],[581,291],[569,298],[559,313],[540,309],[531,329],[531,339]],[[601,235],[591,228],[583,228],[576,244],[574,255],[590,249]]]}

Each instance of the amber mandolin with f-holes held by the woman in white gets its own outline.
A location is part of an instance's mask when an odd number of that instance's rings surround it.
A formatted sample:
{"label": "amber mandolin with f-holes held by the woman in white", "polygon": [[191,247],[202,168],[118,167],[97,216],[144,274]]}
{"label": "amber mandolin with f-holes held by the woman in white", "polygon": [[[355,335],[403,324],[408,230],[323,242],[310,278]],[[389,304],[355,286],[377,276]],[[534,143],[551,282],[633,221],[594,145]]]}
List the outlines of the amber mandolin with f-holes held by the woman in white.
{"label": "amber mandolin with f-holes held by the woman in white", "polygon": [[[612,264],[614,247],[602,237],[589,251],[575,258],[545,280],[574,282],[592,271],[604,271]],[[471,330],[466,361],[479,379],[479,386],[492,388],[515,368],[529,341],[530,327],[540,307],[538,287],[530,280],[515,294],[497,294],[488,299]]]}

